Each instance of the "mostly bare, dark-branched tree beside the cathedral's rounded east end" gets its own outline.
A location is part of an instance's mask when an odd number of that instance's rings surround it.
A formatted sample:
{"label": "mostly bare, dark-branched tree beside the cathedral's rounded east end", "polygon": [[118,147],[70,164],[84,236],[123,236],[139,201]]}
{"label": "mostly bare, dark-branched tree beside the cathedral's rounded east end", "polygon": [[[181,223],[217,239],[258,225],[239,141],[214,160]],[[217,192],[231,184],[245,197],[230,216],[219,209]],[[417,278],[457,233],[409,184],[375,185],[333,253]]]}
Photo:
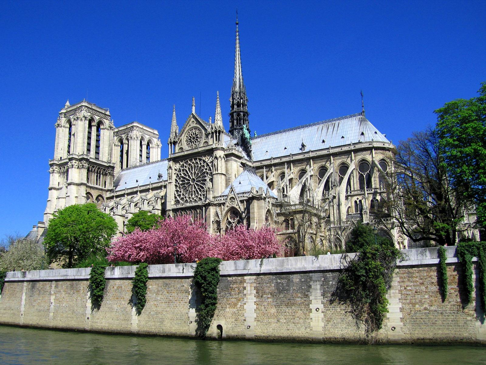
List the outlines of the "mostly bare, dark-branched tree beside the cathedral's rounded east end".
{"label": "mostly bare, dark-branched tree beside the cathedral's rounded east end", "polygon": [[396,219],[414,242],[454,245],[464,203],[456,199],[452,178],[439,153],[435,130],[414,132],[397,147],[396,164],[387,176],[383,213]]}

